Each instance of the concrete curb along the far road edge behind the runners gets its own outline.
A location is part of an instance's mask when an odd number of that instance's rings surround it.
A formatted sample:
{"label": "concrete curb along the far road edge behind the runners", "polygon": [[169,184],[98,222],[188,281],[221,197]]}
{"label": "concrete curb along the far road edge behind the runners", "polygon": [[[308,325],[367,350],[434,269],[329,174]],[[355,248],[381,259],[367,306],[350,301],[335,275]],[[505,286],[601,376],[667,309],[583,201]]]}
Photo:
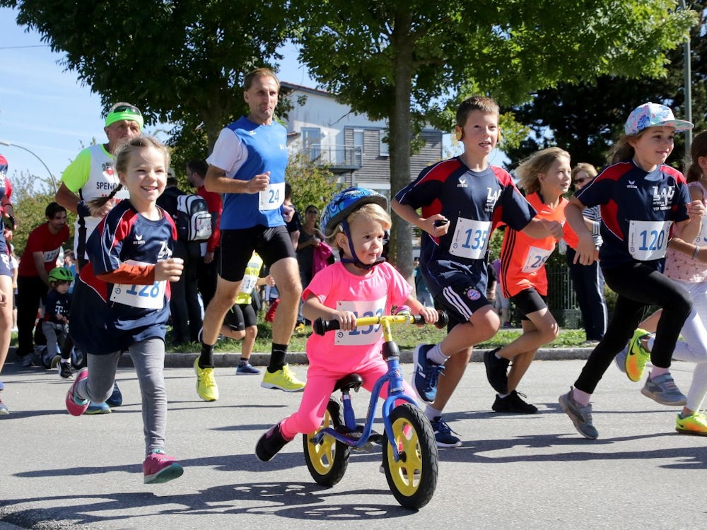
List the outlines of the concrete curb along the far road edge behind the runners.
{"label": "concrete curb along the far road edge behind the runners", "polygon": [[[484,353],[488,349],[474,350],[472,355],[472,363],[483,363]],[[592,348],[541,348],[535,355],[535,360],[572,360],[586,359],[592,353]],[[190,368],[194,365],[194,360],[199,356],[199,353],[167,353],[165,355],[166,368]],[[250,356],[250,363],[253,366],[267,366],[270,360],[269,353],[253,353]],[[214,366],[217,368],[236,367],[240,361],[240,352],[238,353],[214,353]],[[308,365],[307,354],[304,352],[289,352],[287,361],[292,365]],[[401,363],[412,363],[412,352],[400,352]],[[119,361],[119,366],[132,366],[130,355],[124,353]]]}

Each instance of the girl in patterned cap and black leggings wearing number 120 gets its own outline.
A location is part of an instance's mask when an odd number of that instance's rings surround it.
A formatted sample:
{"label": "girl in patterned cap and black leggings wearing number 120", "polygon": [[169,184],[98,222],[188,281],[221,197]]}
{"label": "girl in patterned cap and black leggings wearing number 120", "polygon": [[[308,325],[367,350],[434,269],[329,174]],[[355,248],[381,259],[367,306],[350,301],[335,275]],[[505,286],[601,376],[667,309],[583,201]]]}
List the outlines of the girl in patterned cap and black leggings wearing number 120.
{"label": "girl in patterned cap and black leggings wearing number 120", "polygon": [[[692,128],[675,119],[670,108],[644,103],[631,112],[623,136],[612,150],[612,165],[584,187],[565,208],[566,218],[579,237],[578,261],[589,264],[595,243],[584,223],[585,206],[601,205],[600,265],[617,304],[607,333],[592,351],[574,387],[559,398],[563,411],[586,438],[597,438],[590,400],[602,375],[633,335],[648,305],[670,307],[658,322],[650,358],[655,391],[670,393],[670,358],[680,329],[689,316],[689,293],[662,274],[669,233],[691,240],[700,230],[704,206],[690,201],[682,173],[665,165],[676,132]],[[644,363],[645,364],[645,363]],[[642,366],[631,363],[631,378]],[[636,377],[638,376],[638,377]]]}

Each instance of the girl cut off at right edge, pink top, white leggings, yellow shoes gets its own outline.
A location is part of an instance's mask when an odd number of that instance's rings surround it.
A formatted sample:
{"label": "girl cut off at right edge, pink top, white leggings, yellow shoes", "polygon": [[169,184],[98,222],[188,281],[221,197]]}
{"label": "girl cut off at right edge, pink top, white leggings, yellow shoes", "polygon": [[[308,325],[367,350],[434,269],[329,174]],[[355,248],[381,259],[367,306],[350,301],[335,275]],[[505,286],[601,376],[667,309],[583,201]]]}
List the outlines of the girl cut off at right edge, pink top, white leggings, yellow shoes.
{"label": "girl cut off at right edge, pink top, white leggings, yellow shoes", "polygon": [[[687,170],[690,197],[707,204],[707,131],[695,136],[690,155],[691,164]],[[644,396],[660,404],[683,405],[675,420],[675,430],[683,434],[701,436],[707,436],[707,416],[703,409],[707,396],[707,247],[703,246],[706,244],[707,223],[703,222],[699,236],[692,242],[677,237],[670,240],[665,256],[665,276],[682,285],[690,293],[693,302],[692,312],[680,330],[684,340],[678,341],[672,353],[673,359],[697,363],[687,396],[683,396],[679,391],[669,394],[657,391],[655,381],[660,376],[653,375],[653,371],[641,389]],[[650,357],[655,337],[648,331],[655,331],[661,313],[662,310],[655,312],[641,322],[641,329],[636,329],[629,343],[633,355],[637,356],[641,363],[645,363]],[[627,373],[631,368],[628,350],[629,348],[624,348],[617,355],[617,364]]]}

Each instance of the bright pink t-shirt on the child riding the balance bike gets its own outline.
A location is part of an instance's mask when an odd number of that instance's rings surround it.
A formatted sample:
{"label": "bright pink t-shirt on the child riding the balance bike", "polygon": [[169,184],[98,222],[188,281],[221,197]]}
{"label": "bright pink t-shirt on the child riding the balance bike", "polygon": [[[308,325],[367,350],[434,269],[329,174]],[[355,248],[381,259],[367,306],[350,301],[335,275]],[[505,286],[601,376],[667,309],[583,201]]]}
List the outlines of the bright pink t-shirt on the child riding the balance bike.
{"label": "bright pink t-shirt on the child riding the balance bike", "polygon": [[[322,304],[339,311],[351,311],[357,317],[390,314],[392,305],[402,305],[411,286],[391,264],[384,262],[356,276],[341,261],[322,269],[302,293],[303,300],[315,295]],[[370,361],[380,361],[381,326],[367,326],[353,331],[329,331],[325,336],[310,335],[307,357],[310,367],[322,365],[329,370],[356,372]]]}

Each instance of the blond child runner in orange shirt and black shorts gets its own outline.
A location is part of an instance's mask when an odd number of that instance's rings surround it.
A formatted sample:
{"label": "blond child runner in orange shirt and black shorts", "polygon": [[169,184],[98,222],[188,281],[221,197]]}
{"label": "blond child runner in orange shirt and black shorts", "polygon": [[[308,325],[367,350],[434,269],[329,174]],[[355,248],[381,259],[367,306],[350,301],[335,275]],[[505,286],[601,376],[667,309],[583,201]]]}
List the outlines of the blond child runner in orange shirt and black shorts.
{"label": "blond child runner in orange shirt and black shorts", "polygon": [[[565,223],[565,205],[562,194],[571,184],[570,155],[559,147],[538,151],[515,170],[520,177],[518,187],[525,189],[525,199],[537,211],[537,219],[556,221],[563,225],[564,239],[571,247],[577,246],[575,232]],[[493,411],[534,414],[537,407],[526,403],[516,389],[530,363],[543,344],[557,338],[559,326],[549,312],[545,261],[555,249],[552,236],[534,239],[522,230],[506,228],[501,247],[501,288],[503,295],[515,302],[523,315],[523,333],[515,341],[486,352],[486,377],[498,394]],[[513,365],[508,370],[508,364]]]}

